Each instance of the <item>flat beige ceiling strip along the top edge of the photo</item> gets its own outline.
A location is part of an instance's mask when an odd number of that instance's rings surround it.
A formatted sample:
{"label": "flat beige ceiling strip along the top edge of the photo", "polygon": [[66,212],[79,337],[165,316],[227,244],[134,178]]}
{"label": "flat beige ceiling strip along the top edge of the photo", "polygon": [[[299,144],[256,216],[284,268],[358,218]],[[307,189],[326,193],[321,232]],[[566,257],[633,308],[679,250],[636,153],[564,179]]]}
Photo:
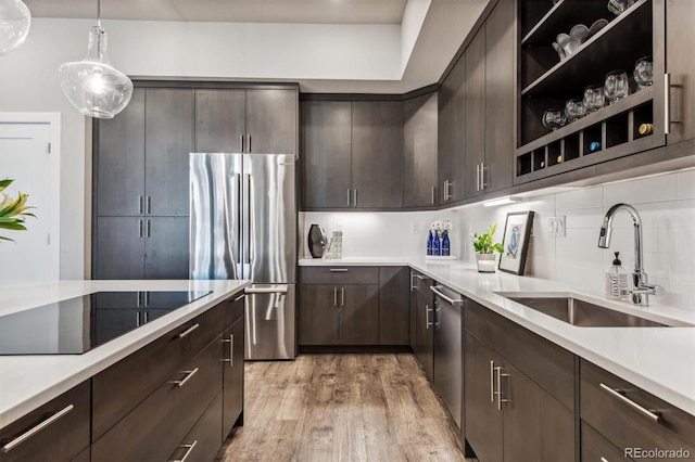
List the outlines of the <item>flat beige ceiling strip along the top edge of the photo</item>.
{"label": "flat beige ceiling strip along the top edge of the photo", "polygon": [[[97,17],[97,0],[25,0],[35,17]],[[302,24],[401,24],[407,0],[102,0],[101,17]]]}

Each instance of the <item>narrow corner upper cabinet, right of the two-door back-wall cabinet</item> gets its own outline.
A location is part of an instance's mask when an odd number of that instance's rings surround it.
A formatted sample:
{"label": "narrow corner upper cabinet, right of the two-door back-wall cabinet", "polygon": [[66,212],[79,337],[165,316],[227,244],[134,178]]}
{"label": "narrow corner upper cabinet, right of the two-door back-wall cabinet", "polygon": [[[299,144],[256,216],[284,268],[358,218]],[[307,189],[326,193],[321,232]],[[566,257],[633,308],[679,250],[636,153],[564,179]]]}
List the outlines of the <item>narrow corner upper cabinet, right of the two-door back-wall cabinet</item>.
{"label": "narrow corner upper cabinet, right of the two-door back-wall cabinet", "polygon": [[437,205],[437,92],[403,102],[403,206]]}

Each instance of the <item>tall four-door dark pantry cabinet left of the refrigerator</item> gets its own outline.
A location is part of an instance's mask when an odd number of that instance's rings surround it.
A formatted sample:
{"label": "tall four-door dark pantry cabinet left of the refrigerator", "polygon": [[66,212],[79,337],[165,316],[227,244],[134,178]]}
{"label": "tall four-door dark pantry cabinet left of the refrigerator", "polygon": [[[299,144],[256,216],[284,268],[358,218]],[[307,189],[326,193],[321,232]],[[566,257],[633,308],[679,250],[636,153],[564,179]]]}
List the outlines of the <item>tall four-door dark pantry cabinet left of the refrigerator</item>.
{"label": "tall four-door dark pantry cabinet left of the refrigerator", "polygon": [[93,278],[186,279],[193,90],[137,88],[94,147]]}

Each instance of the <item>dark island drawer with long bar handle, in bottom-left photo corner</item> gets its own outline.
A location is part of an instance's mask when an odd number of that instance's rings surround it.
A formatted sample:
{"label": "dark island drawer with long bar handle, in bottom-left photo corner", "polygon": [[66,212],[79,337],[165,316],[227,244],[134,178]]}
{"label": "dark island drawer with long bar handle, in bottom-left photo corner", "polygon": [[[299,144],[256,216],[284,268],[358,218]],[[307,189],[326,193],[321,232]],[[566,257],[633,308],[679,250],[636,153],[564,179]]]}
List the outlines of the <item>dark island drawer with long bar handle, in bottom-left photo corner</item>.
{"label": "dark island drawer with long bar handle, in bottom-left photo corner", "polygon": [[76,458],[89,447],[89,395],[87,381],[0,429],[0,460],[70,461]]}

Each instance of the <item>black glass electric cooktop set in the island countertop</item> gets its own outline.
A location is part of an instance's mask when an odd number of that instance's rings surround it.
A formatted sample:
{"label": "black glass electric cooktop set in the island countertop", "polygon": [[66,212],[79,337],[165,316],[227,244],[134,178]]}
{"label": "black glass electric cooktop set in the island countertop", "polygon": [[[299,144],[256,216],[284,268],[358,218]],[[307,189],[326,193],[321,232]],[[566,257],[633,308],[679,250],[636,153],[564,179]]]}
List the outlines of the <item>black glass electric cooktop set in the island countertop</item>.
{"label": "black glass electric cooktop set in the island countertop", "polygon": [[210,293],[94,292],[0,316],[0,355],[80,355]]}

